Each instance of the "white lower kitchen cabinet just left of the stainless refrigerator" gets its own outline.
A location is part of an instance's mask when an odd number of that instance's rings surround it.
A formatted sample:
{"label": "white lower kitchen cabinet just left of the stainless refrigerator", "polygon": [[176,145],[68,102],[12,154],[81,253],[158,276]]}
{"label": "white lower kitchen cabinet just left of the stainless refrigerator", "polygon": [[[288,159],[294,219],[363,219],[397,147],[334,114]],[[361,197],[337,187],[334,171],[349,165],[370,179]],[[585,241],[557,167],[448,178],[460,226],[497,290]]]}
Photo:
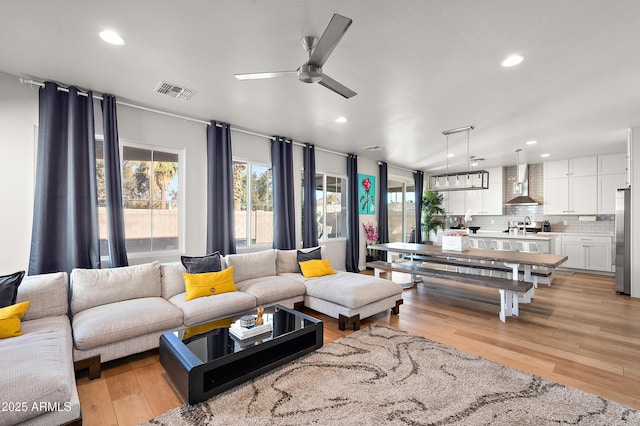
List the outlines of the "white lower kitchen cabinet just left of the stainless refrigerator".
{"label": "white lower kitchen cabinet just left of the stainless refrigerator", "polygon": [[562,235],[563,268],[611,272],[611,237]]}

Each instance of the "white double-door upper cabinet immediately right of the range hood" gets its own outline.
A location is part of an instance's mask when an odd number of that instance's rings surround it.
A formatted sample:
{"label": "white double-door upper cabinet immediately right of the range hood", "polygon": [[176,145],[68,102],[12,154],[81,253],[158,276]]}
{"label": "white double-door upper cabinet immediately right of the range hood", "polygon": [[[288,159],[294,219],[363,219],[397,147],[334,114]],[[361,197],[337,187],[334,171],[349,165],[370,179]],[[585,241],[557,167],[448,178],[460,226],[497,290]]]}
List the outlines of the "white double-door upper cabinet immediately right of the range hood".
{"label": "white double-door upper cabinet immediately right of the range hood", "polygon": [[597,157],[546,161],[544,163],[544,214],[596,214],[598,212],[597,173]]}

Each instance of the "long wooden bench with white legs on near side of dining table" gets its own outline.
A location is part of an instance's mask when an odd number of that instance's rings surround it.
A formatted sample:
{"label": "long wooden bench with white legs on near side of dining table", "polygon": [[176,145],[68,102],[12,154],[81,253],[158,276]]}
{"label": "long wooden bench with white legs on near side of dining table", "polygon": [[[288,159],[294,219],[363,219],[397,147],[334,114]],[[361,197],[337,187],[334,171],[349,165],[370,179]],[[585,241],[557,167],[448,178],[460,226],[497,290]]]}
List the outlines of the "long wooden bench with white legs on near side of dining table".
{"label": "long wooden bench with white legs on near side of dining table", "polygon": [[[433,278],[453,280],[463,284],[473,284],[487,288],[496,288],[500,291],[500,321],[506,322],[506,317],[518,316],[518,304],[530,303],[533,297],[533,283],[525,281],[508,280],[505,278],[487,277],[483,275],[471,275],[443,269],[429,268],[417,265],[414,262],[390,263],[382,260],[367,262],[366,266],[374,269],[374,274],[380,276],[380,271],[402,272],[411,275],[420,275]],[[465,263],[466,266],[466,263]],[[518,293],[523,297],[519,298]]]}

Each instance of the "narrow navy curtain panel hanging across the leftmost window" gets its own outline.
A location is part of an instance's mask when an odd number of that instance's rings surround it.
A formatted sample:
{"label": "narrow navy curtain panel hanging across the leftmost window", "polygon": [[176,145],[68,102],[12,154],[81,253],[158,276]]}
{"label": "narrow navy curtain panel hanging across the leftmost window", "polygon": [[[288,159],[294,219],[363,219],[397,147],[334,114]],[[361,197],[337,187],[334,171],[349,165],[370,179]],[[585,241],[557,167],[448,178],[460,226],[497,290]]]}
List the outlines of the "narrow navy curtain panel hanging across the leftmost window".
{"label": "narrow navy curtain panel hanging across the leftmost window", "polygon": [[104,123],[104,186],[107,198],[107,244],[109,250],[109,267],[115,268],[129,265],[124,235],[118,116],[115,96],[104,95],[102,99],[102,121]]}

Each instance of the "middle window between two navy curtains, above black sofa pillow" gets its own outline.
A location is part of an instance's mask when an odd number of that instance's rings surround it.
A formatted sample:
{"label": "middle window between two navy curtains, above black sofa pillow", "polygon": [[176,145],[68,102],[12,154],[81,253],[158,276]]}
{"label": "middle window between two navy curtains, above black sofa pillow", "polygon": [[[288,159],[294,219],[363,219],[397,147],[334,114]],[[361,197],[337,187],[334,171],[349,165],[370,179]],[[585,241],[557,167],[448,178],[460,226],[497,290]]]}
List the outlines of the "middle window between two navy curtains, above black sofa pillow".
{"label": "middle window between two navy curtains, above black sofa pillow", "polygon": [[270,166],[246,161],[233,162],[233,206],[236,247],[273,243],[273,182]]}

